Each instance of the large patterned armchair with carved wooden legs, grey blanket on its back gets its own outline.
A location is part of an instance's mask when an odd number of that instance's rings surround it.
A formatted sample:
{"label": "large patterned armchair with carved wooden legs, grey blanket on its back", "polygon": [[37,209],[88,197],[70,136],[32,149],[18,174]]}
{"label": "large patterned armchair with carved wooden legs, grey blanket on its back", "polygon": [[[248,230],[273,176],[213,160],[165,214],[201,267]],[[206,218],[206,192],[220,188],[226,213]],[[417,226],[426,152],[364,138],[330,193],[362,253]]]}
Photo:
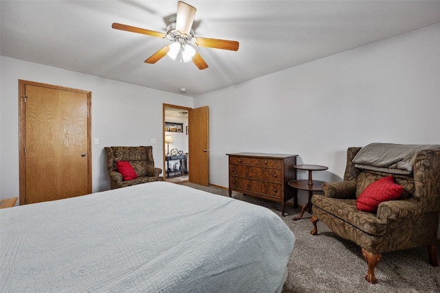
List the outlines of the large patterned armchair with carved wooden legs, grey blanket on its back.
{"label": "large patterned armchair with carved wooden legs, grey blanket on its back", "polygon": [[358,196],[390,174],[355,167],[352,160],[360,149],[348,149],[344,181],[324,183],[324,196],[312,197],[314,229],[310,233],[318,233],[316,222],[321,220],[340,237],[358,244],[368,265],[365,279],[369,283],[377,283],[374,269],[382,253],[393,250],[427,246],[430,264],[438,266],[440,150],[417,152],[411,174],[393,174],[395,183],[403,187],[400,198],[381,202],[377,213],[367,213],[357,209]]}

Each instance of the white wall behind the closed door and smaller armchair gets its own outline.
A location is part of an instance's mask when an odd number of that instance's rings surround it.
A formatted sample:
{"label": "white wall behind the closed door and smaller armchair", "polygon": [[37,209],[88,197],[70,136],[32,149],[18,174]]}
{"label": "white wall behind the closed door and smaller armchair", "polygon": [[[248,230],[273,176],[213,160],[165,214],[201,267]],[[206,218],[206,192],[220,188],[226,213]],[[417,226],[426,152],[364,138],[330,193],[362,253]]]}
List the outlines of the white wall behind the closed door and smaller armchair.
{"label": "white wall behind the closed door and smaller armchair", "polygon": [[4,56],[0,62],[0,198],[19,196],[19,79],[91,91],[91,137],[99,139],[92,145],[93,192],[110,188],[104,146],[153,145],[162,168],[162,104],[192,107],[192,97]]}

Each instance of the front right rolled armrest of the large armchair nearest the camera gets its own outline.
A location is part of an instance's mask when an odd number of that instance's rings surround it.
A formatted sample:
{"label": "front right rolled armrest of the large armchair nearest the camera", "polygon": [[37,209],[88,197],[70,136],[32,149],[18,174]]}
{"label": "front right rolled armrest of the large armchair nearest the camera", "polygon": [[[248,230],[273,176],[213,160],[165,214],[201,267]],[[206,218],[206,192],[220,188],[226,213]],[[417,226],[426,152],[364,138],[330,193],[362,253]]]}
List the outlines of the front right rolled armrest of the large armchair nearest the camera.
{"label": "front right rolled armrest of the large armchair nearest the camera", "polygon": [[414,218],[421,213],[421,204],[415,198],[408,200],[388,200],[381,202],[377,208],[379,220],[397,220],[402,218]]}

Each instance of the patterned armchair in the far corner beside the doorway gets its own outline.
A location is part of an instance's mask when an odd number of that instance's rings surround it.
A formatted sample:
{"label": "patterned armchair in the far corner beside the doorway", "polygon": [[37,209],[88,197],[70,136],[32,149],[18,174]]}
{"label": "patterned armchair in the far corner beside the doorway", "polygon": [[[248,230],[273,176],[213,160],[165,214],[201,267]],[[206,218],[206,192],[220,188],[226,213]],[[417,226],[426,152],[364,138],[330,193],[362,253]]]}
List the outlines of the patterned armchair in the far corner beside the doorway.
{"label": "patterned armchair in the far corner beside the doorway", "polygon": [[[127,187],[140,183],[163,181],[161,168],[154,167],[153,147],[105,147],[107,154],[107,172],[109,172],[111,189]],[[136,172],[137,178],[124,181],[118,172],[116,162],[128,161]]]}

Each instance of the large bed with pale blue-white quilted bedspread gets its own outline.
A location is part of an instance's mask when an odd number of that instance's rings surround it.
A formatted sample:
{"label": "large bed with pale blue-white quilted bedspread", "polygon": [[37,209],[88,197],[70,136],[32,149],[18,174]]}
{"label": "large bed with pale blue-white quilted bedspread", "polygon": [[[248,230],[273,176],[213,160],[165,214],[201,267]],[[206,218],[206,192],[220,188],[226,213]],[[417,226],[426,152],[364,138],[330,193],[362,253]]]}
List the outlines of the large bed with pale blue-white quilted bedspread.
{"label": "large bed with pale blue-white quilted bedspread", "polygon": [[2,292],[281,292],[274,212],[153,182],[0,210]]}

